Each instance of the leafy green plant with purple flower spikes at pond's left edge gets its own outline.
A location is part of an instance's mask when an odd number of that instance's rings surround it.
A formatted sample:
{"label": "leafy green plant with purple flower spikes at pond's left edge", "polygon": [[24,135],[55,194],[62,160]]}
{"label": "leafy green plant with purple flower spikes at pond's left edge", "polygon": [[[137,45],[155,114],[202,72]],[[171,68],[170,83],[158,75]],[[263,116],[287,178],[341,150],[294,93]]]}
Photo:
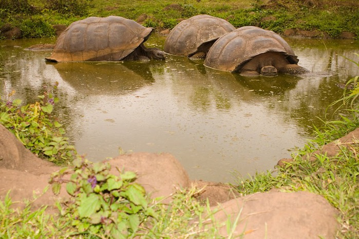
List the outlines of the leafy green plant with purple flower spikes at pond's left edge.
{"label": "leafy green plant with purple flower spikes at pond's left edge", "polygon": [[21,99],[0,99],[0,124],[15,134],[31,152],[56,164],[68,164],[77,152],[64,136],[62,125],[51,116],[59,99],[47,91],[39,99],[39,102],[24,106],[21,106]]}

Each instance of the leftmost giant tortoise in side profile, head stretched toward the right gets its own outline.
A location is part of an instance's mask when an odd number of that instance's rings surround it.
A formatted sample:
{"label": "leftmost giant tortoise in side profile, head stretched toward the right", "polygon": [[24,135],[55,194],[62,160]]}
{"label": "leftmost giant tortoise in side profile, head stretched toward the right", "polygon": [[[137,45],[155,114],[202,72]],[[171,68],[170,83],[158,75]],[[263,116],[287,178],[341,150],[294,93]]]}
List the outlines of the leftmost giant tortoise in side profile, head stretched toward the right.
{"label": "leftmost giant tortoise in side profile, head stretched toward the right", "polygon": [[66,28],[51,56],[45,59],[52,62],[164,59],[163,51],[143,45],[152,30],[120,16],[88,17]]}

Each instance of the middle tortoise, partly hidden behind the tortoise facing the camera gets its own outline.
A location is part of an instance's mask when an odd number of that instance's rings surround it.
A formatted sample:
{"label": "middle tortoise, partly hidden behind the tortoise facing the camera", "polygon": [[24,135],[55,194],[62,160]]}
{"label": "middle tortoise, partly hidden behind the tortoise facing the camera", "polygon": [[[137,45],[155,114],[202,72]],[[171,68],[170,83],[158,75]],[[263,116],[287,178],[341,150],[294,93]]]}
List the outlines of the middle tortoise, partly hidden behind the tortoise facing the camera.
{"label": "middle tortoise, partly hidden behind the tortoise facing the camera", "polygon": [[192,59],[205,58],[213,43],[236,28],[222,18],[197,15],[183,20],[168,34],[164,51]]}

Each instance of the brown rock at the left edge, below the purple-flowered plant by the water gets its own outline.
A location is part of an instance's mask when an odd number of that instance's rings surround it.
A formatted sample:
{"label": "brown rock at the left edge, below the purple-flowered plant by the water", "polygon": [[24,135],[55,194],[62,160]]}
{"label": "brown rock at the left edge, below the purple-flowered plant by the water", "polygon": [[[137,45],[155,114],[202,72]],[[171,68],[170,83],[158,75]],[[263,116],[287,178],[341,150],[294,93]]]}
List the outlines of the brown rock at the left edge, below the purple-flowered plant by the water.
{"label": "brown rock at the left edge, below the purple-flowered plant by the water", "polygon": [[[44,195],[33,202],[32,208],[37,209],[42,205],[54,206],[55,198],[67,196],[64,187],[60,196],[55,196],[48,184],[50,174],[60,167],[31,153],[1,124],[0,135],[0,200],[4,200],[9,190],[13,202],[33,200],[33,195],[40,196],[49,187]],[[22,203],[14,205],[24,206]]]}

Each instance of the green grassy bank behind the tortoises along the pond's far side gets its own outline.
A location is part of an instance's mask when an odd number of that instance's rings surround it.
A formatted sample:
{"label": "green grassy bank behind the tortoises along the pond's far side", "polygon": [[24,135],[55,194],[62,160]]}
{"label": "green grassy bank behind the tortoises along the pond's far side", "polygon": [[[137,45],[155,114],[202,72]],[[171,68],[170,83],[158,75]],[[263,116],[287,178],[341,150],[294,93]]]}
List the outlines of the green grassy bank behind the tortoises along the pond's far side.
{"label": "green grassy bank behind the tortoises along the pond's far side", "polygon": [[181,19],[209,14],[228,20],[235,27],[258,26],[283,33],[287,29],[317,30],[318,36],[336,38],[343,31],[359,37],[359,3],[355,0],[184,0],[184,1],[62,1],[1,0],[0,28],[10,23],[23,37],[54,36],[51,25],[88,16],[118,15],[135,21],[146,15],[143,25],[172,29]]}

